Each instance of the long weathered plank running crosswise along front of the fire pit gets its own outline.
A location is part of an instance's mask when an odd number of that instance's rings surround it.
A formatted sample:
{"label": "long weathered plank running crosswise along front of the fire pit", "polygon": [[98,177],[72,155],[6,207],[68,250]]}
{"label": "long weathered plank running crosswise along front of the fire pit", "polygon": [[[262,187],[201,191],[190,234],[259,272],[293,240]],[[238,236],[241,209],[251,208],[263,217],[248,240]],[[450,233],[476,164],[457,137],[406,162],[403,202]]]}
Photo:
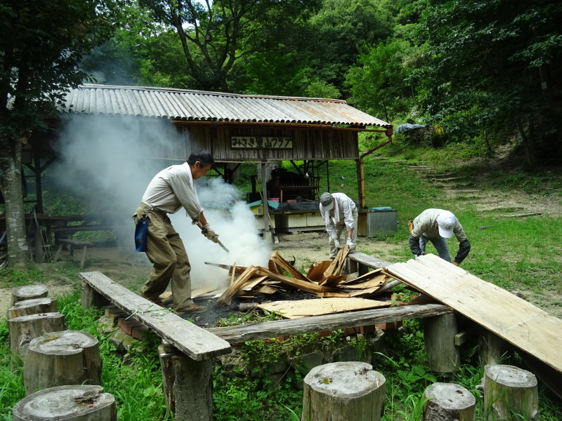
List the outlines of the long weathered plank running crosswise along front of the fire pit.
{"label": "long weathered plank running crosswise along front of the fire pit", "polygon": [[[346,298],[346,300],[349,299]],[[325,316],[301,317],[300,319],[293,320],[248,323],[240,326],[209,328],[207,330],[232,344],[246,342],[248,340],[303,335],[303,333],[322,332],[323,330],[338,330],[376,323],[420,319],[423,317],[450,314],[451,312],[452,309],[446,305],[406,305],[402,307],[387,307],[384,309],[360,310],[359,312],[327,314]]]}

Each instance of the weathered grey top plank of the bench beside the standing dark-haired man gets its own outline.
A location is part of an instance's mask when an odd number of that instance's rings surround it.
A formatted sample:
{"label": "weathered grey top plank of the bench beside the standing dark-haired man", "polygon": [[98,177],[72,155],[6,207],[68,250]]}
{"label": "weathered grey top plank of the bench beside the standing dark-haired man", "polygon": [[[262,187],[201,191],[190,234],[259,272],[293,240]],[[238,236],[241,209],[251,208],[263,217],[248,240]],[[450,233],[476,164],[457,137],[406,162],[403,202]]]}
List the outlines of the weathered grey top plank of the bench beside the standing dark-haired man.
{"label": "weathered grey top plank of the bench beside the standing dark-haired man", "polygon": [[161,338],[170,342],[183,354],[195,361],[228,354],[232,348],[228,342],[217,338],[177,314],[169,312],[140,295],[112,281],[100,272],[81,272],[82,281],[100,295],[110,300],[136,321],[143,323]]}

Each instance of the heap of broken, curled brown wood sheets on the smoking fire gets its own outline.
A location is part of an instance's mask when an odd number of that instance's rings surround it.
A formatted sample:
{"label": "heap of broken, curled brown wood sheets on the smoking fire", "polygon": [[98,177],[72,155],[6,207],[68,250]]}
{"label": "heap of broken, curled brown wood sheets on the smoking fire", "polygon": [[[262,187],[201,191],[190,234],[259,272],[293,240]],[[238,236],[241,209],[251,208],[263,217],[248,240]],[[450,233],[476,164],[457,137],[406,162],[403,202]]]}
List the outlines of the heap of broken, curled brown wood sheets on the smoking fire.
{"label": "heap of broken, curled brown wood sheets on the smoking fire", "polygon": [[273,294],[287,289],[303,290],[321,298],[372,298],[393,279],[382,269],[362,276],[342,275],[347,254],[348,247],[345,246],[334,261],[315,262],[306,274],[301,274],[277,251],[271,254],[267,268],[216,265],[228,269],[230,274],[230,286],[218,298],[217,306],[230,305],[234,296],[254,298],[259,293]]}

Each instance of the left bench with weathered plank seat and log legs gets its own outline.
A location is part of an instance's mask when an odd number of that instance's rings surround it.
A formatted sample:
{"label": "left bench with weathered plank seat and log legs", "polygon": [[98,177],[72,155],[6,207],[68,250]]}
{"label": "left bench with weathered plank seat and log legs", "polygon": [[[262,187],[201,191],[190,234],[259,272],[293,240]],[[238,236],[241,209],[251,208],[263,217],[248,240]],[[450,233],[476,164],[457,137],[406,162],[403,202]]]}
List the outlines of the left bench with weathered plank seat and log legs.
{"label": "left bench with weathered plank seat and log legs", "polygon": [[212,359],[232,352],[230,344],[100,272],[81,272],[80,276],[84,308],[115,305],[162,338],[159,357],[164,399],[174,412],[174,418],[178,421],[211,421]]}

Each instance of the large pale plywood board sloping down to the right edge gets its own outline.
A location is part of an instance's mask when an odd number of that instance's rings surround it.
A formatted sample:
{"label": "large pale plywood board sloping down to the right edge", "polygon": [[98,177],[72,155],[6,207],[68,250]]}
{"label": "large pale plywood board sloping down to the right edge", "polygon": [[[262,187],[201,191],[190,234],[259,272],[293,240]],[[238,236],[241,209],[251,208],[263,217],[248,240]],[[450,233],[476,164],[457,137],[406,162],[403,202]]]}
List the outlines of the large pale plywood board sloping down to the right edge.
{"label": "large pale plywood board sloping down to the right edge", "polygon": [[436,255],[384,270],[562,372],[561,319]]}

